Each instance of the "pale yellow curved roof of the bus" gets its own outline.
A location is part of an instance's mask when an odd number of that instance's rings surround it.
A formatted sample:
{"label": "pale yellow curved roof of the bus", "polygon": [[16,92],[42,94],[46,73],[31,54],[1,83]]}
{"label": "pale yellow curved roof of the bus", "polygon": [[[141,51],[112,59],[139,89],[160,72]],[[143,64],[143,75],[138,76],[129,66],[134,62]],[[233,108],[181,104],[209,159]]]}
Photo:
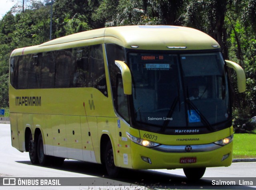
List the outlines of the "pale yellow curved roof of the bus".
{"label": "pale yellow curved roof of the bus", "polygon": [[200,50],[220,48],[207,34],[181,26],[117,26],[71,34],[38,46],[19,48],[12,56],[114,43],[124,48],[147,50]]}

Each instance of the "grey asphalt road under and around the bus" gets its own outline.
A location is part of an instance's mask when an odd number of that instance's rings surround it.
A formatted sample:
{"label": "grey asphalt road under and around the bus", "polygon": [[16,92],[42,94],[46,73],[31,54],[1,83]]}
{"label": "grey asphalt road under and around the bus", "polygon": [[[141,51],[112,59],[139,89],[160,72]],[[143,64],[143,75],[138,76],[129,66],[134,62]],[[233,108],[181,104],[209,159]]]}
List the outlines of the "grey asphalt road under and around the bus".
{"label": "grey asphalt road under and around the bus", "polygon": [[[62,167],[32,165],[28,152],[19,152],[11,146],[10,124],[0,124],[0,178],[61,178],[66,183],[77,180],[74,186],[1,186],[0,189],[256,189],[256,162],[238,162],[229,167],[206,168],[204,178],[189,181],[182,169],[176,170],[123,170],[115,179],[105,176],[100,164],[65,160]],[[212,185],[215,180],[215,185]],[[244,181],[253,185],[241,186]],[[236,185],[220,186],[216,182]],[[63,184],[63,183],[62,183]],[[65,184],[65,183],[64,183]],[[121,185],[121,186],[120,186]]]}

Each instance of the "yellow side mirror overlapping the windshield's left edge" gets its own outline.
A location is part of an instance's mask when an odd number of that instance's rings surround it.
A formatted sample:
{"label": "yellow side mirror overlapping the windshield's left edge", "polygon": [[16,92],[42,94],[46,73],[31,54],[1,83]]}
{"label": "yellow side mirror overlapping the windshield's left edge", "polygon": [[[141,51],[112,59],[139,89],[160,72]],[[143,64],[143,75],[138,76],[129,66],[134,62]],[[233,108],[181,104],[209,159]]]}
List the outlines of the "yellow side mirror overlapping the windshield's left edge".
{"label": "yellow side mirror overlapping the windshield's left edge", "polygon": [[122,73],[122,80],[124,85],[124,94],[132,94],[132,75],[129,67],[123,61],[115,61]]}

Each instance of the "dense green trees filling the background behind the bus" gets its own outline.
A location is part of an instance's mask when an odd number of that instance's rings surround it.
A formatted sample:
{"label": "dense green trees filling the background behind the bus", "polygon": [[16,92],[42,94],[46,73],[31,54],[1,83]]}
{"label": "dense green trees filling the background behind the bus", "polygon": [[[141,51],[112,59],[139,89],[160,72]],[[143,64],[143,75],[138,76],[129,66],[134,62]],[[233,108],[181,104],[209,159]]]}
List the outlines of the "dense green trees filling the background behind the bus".
{"label": "dense green trees filling the background behind the bus", "polygon": [[[14,0],[12,0],[14,1]],[[8,107],[8,59],[15,48],[49,40],[51,0],[21,0],[0,20],[0,107]],[[234,127],[256,115],[256,0],[53,0],[52,38],[122,25],[180,25],[206,32],[225,59],[246,72],[247,90],[232,86]],[[231,81],[236,75],[230,72]],[[255,130],[250,127],[249,131]]]}

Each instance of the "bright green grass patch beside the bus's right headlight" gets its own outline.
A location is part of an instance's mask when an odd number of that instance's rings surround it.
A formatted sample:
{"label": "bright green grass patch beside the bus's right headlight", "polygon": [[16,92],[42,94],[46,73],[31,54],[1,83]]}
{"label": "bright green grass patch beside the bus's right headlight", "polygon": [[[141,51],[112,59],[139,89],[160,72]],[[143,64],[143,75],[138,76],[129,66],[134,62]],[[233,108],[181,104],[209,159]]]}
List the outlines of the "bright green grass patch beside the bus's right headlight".
{"label": "bright green grass patch beside the bus's right headlight", "polygon": [[234,134],[233,158],[256,158],[256,134]]}

